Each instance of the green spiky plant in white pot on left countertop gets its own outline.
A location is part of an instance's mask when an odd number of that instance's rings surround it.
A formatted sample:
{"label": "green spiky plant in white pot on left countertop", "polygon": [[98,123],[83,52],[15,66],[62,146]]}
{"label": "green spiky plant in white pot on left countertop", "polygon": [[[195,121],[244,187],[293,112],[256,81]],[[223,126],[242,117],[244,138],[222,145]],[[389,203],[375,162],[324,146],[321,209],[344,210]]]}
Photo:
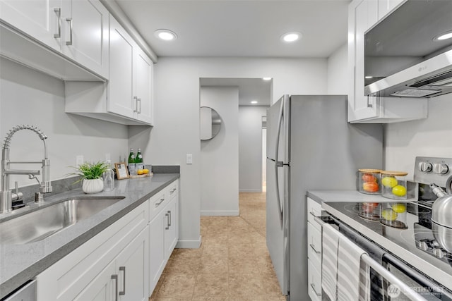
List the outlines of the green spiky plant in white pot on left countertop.
{"label": "green spiky plant in white pot on left countertop", "polygon": [[75,183],[82,181],[82,190],[85,193],[97,193],[104,190],[104,180],[102,175],[108,170],[106,162],[98,161],[96,163],[85,162],[76,167],[76,172],[70,175],[80,176]]}

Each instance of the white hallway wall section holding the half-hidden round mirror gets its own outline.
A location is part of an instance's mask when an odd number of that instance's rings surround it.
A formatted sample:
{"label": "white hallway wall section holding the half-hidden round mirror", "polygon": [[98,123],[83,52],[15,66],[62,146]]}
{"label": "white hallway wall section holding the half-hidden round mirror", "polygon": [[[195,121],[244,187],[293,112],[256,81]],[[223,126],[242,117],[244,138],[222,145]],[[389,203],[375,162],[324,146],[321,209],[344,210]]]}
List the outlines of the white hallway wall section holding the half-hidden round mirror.
{"label": "white hallway wall section holding the half-hidden round mirror", "polygon": [[201,106],[222,118],[218,135],[201,141],[201,215],[239,215],[239,88],[201,87]]}

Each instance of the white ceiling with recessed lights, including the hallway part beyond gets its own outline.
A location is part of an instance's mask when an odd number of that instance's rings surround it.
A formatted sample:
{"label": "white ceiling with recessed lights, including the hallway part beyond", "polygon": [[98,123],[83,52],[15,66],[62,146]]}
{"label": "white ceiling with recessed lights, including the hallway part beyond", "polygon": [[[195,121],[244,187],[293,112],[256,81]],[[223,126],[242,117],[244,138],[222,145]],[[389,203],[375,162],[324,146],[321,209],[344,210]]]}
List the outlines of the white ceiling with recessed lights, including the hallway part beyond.
{"label": "white ceiling with recessed lights, including the hallway part beyond", "polygon": [[[347,41],[350,0],[116,0],[157,56],[327,58]],[[177,39],[157,39],[157,29]],[[302,33],[287,44],[285,32]],[[239,86],[239,104],[270,104],[270,82],[205,79],[205,85]],[[263,94],[268,93],[268,97]],[[263,103],[266,99],[266,103]],[[259,100],[258,100],[259,101]]]}

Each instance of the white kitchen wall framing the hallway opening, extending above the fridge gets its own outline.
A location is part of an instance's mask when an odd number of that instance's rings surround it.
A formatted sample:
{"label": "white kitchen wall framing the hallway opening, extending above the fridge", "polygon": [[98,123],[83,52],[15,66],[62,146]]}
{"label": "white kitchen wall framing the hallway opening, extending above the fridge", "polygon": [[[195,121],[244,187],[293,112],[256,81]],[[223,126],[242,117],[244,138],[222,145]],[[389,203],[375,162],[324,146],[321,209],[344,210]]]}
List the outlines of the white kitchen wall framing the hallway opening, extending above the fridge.
{"label": "white kitchen wall framing the hallway opening, extending above the fridge", "polygon": [[[151,164],[181,165],[179,245],[200,243],[201,164],[199,78],[273,78],[282,94],[326,93],[326,59],[159,58],[155,64],[155,125],[133,127],[129,144],[141,145]],[[193,164],[186,164],[193,154]]]}

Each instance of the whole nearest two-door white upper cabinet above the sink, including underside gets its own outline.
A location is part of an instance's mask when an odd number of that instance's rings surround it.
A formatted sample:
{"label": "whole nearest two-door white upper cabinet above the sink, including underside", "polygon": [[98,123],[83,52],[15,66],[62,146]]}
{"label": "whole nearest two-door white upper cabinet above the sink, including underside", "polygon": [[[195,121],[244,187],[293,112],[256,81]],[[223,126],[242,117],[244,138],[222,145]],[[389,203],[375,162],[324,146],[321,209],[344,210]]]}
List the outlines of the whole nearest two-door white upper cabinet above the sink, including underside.
{"label": "whole nearest two-door white upper cabinet above the sink, including underside", "polygon": [[108,79],[109,11],[99,0],[0,0],[0,18],[2,56],[63,80]]}

